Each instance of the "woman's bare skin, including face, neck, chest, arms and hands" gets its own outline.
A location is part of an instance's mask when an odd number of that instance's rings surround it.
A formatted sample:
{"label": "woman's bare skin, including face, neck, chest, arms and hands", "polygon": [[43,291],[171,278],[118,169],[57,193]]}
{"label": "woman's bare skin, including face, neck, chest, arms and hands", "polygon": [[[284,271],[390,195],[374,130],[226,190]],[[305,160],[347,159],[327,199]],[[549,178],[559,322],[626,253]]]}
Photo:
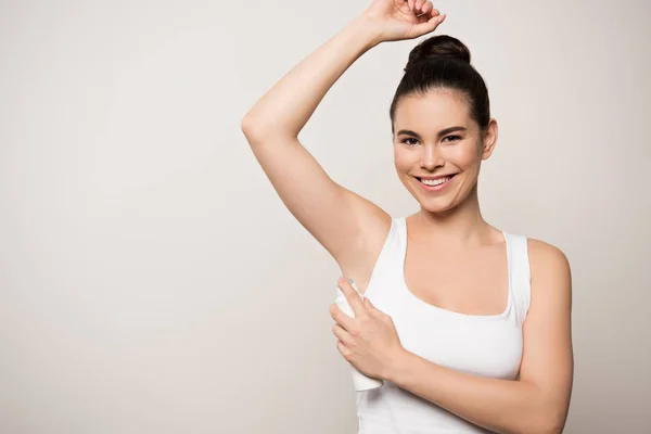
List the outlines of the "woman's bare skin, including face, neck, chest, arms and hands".
{"label": "woman's bare skin, including face, neck, chest, arms and hands", "polygon": [[[426,35],[444,20],[430,1],[374,0],[282,77],[242,120],[254,155],[283,203],[362,293],[391,216],[335,183],[303,148],[298,132],[332,85],[366,51]],[[393,127],[396,173],[420,204],[407,218],[409,290],[449,310],[501,312],[508,290],[505,240],[482,217],[476,189],[481,164],[497,143],[497,122],[481,129],[460,94],[433,89],[401,99]],[[448,175],[454,178],[441,191],[427,191],[419,180]],[[391,317],[368,298],[362,302],[345,282],[340,288],[356,316],[331,306],[340,353],[360,371],[394,381],[495,432],[561,432],[573,379],[570,267],[561,251],[542,241],[529,239],[528,251],[532,302],[518,381],[462,374],[405,350]],[[442,266],[433,268],[432,263]]]}

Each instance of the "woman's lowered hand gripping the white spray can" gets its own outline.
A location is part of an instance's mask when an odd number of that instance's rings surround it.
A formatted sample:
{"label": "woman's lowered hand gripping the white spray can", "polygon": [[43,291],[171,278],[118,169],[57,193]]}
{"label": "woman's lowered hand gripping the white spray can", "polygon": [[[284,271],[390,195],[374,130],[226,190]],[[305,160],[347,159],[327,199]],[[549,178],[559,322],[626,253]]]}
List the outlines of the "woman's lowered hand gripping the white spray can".
{"label": "woman's lowered hand gripping the white spray can", "polygon": [[345,280],[339,288],[346,296],[355,318],[347,316],[336,304],[330,306],[330,315],[336,321],[332,332],[337,337],[337,349],[344,358],[363,374],[386,379],[404,352],[393,319],[359,294]]}

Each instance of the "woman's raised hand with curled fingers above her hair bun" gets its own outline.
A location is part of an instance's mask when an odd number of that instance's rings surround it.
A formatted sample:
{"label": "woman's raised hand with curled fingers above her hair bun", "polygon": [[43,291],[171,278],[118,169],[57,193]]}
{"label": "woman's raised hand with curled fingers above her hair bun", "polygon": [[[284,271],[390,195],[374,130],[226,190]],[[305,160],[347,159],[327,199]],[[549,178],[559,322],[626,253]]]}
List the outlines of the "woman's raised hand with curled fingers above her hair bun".
{"label": "woman's raised hand with curled fingers above her hair bun", "polygon": [[363,15],[381,41],[418,38],[434,31],[446,17],[429,0],[373,0]]}

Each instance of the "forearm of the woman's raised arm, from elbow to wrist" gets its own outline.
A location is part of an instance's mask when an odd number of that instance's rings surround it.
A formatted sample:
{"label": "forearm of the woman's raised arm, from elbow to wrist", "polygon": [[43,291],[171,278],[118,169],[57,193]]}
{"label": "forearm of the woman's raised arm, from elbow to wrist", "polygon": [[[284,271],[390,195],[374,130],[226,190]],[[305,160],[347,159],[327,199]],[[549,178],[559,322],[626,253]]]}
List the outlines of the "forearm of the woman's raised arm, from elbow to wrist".
{"label": "forearm of the woman's raised arm, from elbow to wrist", "polygon": [[380,43],[363,15],[301,61],[246,114],[243,126],[264,135],[298,132],[328,90],[366,51]]}

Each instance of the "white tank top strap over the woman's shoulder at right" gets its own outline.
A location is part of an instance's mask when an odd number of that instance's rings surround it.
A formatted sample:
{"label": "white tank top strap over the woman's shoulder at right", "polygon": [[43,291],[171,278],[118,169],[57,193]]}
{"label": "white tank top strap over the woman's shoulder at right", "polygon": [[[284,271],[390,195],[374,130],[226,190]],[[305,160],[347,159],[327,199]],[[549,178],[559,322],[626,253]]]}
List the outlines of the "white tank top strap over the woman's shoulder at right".
{"label": "white tank top strap over the woman's shoulder at right", "polygon": [[509,279],[511,280],[513,305],[518,326],[522,327],[528,311],[532,293],[527,239],[524,235],[513,233],[505,233],[505,235],[508,238],[507,246],[511,259]]}

